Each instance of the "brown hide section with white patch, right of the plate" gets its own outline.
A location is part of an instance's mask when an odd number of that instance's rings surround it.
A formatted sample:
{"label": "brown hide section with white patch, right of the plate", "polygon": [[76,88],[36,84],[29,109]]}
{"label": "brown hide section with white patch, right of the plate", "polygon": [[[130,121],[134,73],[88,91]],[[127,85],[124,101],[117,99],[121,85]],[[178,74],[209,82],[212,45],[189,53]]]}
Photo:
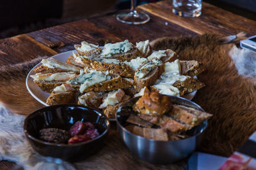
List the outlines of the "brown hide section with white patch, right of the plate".
{"label": "brown hide section with white patch, right of the plate", "polygon": [[[198,79],[206,87],[193,101],[214,116],[204,133],[200,150],[229,156],[256,131],[256,55],[234,44],[223,44],[218,35],[161,38],[154,50],[170,48],[182,60],[198,60],[205,66]],[[230,57],[231,55],[231,57]]]}

